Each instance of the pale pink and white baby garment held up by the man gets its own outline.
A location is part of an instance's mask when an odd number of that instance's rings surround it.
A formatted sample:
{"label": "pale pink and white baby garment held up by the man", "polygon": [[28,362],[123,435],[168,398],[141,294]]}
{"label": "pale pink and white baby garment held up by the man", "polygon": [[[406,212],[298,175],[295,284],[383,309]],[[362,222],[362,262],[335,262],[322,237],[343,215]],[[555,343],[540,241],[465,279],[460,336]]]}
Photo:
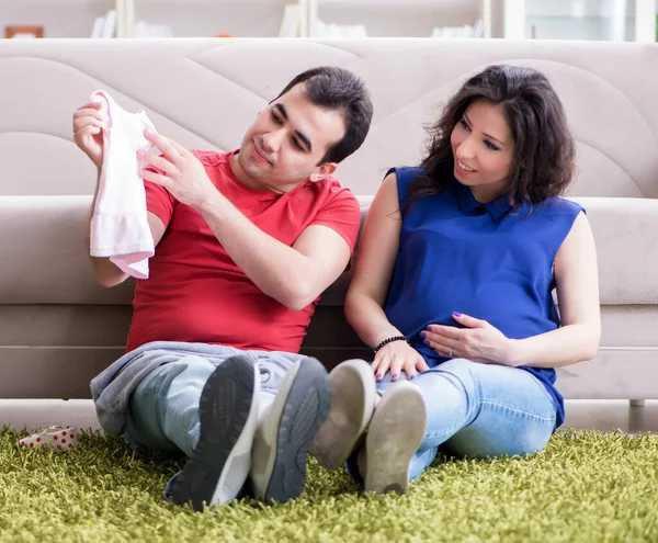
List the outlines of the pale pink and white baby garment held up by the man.
{"label": "pale pink and white baby garment held up by the man", "polygon": [[144,111],[128,113],[105,91],[93,92],[90,101],[99,102],[105,114],[103,166],[91,218],[90,254],[110,257],[125,273],[147,279],[148,259],[155,247],[137,150],[152,149],[144,131],[156,129]]}

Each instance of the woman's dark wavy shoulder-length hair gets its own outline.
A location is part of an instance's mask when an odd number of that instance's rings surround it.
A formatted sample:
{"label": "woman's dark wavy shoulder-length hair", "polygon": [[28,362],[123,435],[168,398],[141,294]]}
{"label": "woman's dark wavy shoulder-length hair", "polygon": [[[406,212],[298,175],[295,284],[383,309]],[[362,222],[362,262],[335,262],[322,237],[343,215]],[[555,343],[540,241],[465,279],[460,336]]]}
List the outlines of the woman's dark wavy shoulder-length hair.
{"label": "woman's dark wavy shoulder-length hair", "polygon": [[427,156],[421,162],[424,174],[410,186],[410,204],[449,185],[454,168],[452,131],[468,105],[480,99],[502,106],[512,133],[514,156],[508,195],[513,207],[558,196],[571,182],[574,138],[563,104],[546,76],[533,68],[489,66],[466,81],[430,127]]}

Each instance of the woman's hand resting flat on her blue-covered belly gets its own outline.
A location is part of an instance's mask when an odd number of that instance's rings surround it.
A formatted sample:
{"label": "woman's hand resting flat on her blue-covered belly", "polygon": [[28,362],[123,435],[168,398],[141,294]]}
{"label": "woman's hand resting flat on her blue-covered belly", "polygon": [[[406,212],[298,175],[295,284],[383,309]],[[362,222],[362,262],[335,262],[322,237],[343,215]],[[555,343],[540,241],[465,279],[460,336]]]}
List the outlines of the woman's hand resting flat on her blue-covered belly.
{"label": "woman's hand resting flat on her blue-covered belly", "polygon": [[484,364],[513,365],[514,340],[507,338],[486,320],[453,313],[453,318],[466,328],[430,325],[420,335],[424,343],[441,357],[467,359]]}

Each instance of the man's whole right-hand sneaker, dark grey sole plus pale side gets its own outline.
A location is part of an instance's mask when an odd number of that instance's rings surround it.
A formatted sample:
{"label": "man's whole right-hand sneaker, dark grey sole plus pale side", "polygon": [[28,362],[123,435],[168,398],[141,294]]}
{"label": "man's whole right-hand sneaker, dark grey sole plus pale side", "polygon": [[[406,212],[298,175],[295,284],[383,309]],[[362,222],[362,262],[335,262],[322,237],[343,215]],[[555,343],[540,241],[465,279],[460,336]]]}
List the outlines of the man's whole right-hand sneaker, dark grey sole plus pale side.
{"label": "man's whole right-hand sneaker, dark grey sole plus pale side", "polygon": [[249,475],[257,498],[284,504],[302,494],[308,444],[330,405],[331,385],[325,366],[311,358],[297,361],[253,439]]}

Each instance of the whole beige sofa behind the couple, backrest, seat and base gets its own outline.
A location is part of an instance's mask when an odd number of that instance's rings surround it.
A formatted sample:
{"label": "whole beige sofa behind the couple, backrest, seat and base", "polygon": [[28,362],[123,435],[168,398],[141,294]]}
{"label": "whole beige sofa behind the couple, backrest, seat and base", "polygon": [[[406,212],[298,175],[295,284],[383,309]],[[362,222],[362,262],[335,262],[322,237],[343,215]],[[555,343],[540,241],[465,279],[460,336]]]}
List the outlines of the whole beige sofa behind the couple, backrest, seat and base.
{"label": "whole beige sofa behind the couple, backrest, seat and base", "polygon": [[[350,68],[367,80],[376,111],[339,178],[365,213],[389,166],[417,162],[423,123],[442,101],[467,75],[502,61],[544,70],[561,95],[578,140],[570,196],[587,207],[598,242],[601,350],[594,361],[559,370],[558,387],[567,398],[658,398],[657,46],[4,39],[0,425],[22,426],[27,412],[34,425],[93,417],[89,381],[123,350],[133,284],[105,290],[90,276],[83,230],[94,170],[71,140],[71,114],[93,90],[145,109],[189,148],[231,149],[292,76],[317,65]],[[326,294],[304,347],[327,365],[368,353],[343,318],[348,281]]]}

